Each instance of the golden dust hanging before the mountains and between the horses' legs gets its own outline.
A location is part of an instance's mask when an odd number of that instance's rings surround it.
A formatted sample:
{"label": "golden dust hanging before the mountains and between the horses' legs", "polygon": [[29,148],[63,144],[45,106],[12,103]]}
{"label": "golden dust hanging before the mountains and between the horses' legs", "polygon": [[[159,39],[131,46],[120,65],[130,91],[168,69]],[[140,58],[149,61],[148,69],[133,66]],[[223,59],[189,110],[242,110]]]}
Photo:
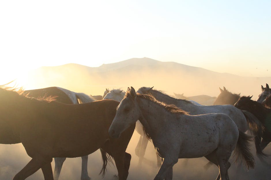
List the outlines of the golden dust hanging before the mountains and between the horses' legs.
{"label": "golden dust hanging before the mountains and between the horses' legs", "polygon": [[[111,69],[110,69],[111,68]],[[26,90],[58,86],[75,92],[84,92],[92,95],[103,95],[105,88],[123,88],[133,86],[136,90],[142,86],[164,90],[166,93],[184,93],[185,96],[208,95],[218,96],[219,87],[225,86],[227,90],[242,95],[253,95],[253,100],[261,92],[261,85],[271,84],[271,78],[241,77],[227,73],[217,73],[202,68],[180,65],[173,62],[151,61],[148,65],[142,66],[132,63],[125,67],[107,69],[89,68],[81,65],[69,64],[58,67],[43,67],[29,73],[22,85]],[[156,165],[156,155],[152,143],[148,143],[145,160],[141,167],[138,167],[138,156],[135,155],[135,146],[138,143],[139,134],[135,131],[129,146],[128,153],[132,155],[129,169],[129,180],[153,179],[159,168]],[[254,144],[252,144],[255,155]],[[270,146],[266,147],[265,153],[271,154]],[[270,179],[270,167],[264,166],[256,157],[255,169],[247,171],[243,165],[234,164],[229,169],[230,179]],[[3,145],[0,144],[0,179],[12,179],[30,160],[22,144]],[[271,164],[270,157],[266,160]],[[179,159],[173,168],[173,179],[215,179],[218,175],[218,168],[212,165],[208,170],[204,165],[208,161],[205,158],[189,159],[186,162]],[[95,179],[102,179],[99,171],[102,167],[102,160],[99,151],[89,155],[88,172],[89,176]],[[54,169],[54,160],[52,161]],[[108,171],[104,180],[115,179],[117,170],[114,165],[108,164]],[[60,180],[80,179],[81,158],[67,158],[63,164]],[[44,179],[42,171],[39,170],[28,180]]]}

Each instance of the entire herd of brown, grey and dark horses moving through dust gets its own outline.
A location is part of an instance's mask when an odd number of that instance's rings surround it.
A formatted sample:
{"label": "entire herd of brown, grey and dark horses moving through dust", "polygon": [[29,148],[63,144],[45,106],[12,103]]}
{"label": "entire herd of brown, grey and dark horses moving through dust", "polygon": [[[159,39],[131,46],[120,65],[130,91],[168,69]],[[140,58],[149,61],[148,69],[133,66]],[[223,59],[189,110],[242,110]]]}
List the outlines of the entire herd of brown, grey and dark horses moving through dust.
{"label": "entire herd of brown, grey and dark horses moving through dust", "polygon": [[98,149],[103,160],[100,174],[114,160],[118,179],[127,179],[131,155],[125,151],[134,130],[140,134],[135,148],[139,165],[148,141],[153,142],[160,167],[155,180],[172,179],[179,158],[197,157],[219,168],[217,180],[229,179],[232,152],[236,161],[254,168],[253,139],[257,156],[267,164],[263,150],[271,142],[268,84],[261,86],[257,101],[224,87],[214,105],[173,98],[153,87],[106,89],[103,96],[89,96],[59,87],[24,91],[8,86],[0,86],[0,143],[22,143],[32,158],[14,180],[26,179],[40,168],[45,180],[57,180],[63,162],[72,157],[82,157],[81,179],[89,180],[88,154]]}

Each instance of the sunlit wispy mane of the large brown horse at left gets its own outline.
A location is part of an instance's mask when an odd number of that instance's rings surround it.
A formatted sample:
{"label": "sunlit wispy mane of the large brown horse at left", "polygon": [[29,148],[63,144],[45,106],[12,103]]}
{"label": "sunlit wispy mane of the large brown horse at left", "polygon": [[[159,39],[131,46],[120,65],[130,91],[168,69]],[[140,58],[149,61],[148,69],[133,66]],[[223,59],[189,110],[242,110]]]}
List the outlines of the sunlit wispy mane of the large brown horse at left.
{"label": "sunlit wispy mane of the large brown horse at left", "polygon": [[29,93],[25,93],[25,90],[22,87],[18,88],[16,86],[13,86],[13,87],[8,86],[12,82],[13,81],[8,82],[7,84],[0,85],[0,90],[16,93],[20,97],[31,98],[31,99],[36,99],[39,101],[46,101],[46,102],[55,101],[57,98],[57,96],[43,96],[43,97],[38,97],[38,98],[28,97]]}

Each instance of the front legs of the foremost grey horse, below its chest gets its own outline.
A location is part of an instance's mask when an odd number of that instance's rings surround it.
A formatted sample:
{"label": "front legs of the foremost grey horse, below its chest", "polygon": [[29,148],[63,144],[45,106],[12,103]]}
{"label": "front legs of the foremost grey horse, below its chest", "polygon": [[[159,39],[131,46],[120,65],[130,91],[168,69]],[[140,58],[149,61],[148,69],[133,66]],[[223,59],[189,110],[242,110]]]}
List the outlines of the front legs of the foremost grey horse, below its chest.
{"label": "front legs of the foremost grey horse, below its chest", "polygon": [[[168,153],[168,154],[171,154],[171,153]],[[154,180],[163,180],[165,179],[166,176],[168,180],[168,178],[170,178],[169,175],[171,173],[172,167],[177,162],[178,162],[178,156],[176,156],[176,158],[174,158],[174,156],[163,158],[162,165],[157,175],[155,176]]]}

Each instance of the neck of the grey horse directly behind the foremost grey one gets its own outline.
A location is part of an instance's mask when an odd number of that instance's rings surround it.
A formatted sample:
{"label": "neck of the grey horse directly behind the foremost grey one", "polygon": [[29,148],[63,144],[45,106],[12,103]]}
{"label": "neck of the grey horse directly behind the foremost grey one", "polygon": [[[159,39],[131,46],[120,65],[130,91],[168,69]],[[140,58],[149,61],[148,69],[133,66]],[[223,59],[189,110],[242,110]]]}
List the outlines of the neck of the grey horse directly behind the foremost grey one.
{"label": "neck of the grey horse directly behind the foremost grey one", "polygon": [[164,102],[166,104],[174,104],[177,107],[184,107],[184,106],[193,106],[192,103],[186,102],[182,99],[176,99],[173,97],[168,96],[167,94],[163,94],[162,92],[151,90],[151,94],[160,102]]}

